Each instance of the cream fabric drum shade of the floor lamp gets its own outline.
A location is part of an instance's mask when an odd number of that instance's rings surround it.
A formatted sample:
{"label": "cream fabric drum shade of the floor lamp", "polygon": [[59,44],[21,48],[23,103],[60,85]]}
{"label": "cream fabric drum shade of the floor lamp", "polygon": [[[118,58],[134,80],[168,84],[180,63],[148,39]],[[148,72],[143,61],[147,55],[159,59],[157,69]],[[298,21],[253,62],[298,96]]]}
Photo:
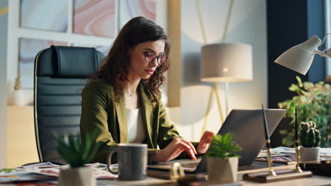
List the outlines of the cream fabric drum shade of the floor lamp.
{"label": "cream fabric drum shade of the floor lamp", "polygon": [[202,46],[200,79],[204,82],[252,80],[252,46],[241,43]]}

